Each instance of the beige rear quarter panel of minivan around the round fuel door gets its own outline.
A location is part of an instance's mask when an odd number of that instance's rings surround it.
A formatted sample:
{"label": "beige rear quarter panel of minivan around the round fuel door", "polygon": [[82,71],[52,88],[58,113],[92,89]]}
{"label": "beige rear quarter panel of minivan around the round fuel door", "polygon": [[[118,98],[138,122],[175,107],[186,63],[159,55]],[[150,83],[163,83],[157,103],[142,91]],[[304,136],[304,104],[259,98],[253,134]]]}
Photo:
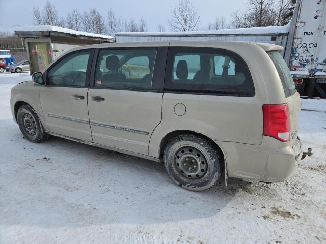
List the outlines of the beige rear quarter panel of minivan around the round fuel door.
{"label": "beige rear quarter panel of minivan around the round fuel door", "polygon": [[[246,42],[205,42],[205,47],[222,48],[240,55],[247,63],[254,97],[164,93],[162,121],[154,130],[149,155],[159,157],[160,142],[170,132],[189,130],[218,141],[259,145],[262,142],[263,104],[286,103],[277,70],[268,54],[258,45]],[[201,42],[171,42],[170,46],[203,47]],[[166,74],[169,75],[169,74]],[[186,113],[174,112],[177,103]]]}

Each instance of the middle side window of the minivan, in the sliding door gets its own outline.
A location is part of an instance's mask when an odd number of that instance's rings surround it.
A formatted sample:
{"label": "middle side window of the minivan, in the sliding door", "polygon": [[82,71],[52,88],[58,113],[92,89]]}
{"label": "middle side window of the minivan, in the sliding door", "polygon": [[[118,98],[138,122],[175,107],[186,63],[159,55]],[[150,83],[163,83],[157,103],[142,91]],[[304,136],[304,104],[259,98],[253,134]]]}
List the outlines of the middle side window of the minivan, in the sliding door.
{"label": "middle side window of the minivan, in the sliding door", "polygon": [[98,55],[95,87],[150,90],[156,49],[107,49]]}

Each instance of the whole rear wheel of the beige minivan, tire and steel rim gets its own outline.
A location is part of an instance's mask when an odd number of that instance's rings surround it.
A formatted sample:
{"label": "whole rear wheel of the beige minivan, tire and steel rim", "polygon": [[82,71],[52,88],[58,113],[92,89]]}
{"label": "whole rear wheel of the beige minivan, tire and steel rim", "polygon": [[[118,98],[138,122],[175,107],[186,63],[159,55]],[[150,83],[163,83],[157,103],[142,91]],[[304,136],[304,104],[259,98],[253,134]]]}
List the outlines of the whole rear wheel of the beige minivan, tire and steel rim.
{"label": "whole rear wheel of the beige minivan, tire and steel rim", "polygon": [[191,191],[214,186],[221,176],[221,162],[218,148],[200,135],[179,135],[164,150],[168,174],[177,185]]}

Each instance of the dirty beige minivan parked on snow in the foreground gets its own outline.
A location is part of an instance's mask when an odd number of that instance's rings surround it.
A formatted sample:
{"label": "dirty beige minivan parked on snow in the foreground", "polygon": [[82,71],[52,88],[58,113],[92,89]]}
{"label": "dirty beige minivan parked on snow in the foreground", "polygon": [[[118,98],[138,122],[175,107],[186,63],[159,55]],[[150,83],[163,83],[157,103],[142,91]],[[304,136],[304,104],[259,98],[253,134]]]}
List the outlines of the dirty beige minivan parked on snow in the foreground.
{"label": "dirty beige minivan parked on snow in the foreground", "polygon": [[188,190],[212,187],[222,172],[284,181],[302,155],[301,99],[281,50],[224,41],[78,47],[13,87],[11,111],[29,141],[55,135],[164,162]]}

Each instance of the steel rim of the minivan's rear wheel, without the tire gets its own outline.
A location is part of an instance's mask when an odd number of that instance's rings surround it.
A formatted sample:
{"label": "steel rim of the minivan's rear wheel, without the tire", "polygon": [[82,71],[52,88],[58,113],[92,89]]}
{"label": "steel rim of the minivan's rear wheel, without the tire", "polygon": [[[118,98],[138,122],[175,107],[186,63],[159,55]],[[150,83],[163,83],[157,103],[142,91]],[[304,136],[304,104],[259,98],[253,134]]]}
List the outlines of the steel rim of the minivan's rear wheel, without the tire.
{"label": "steel rim of the minivan's rear wheel, without the tire", "polygon": [[208,170],[206,157],[193,146],[181,146],[174,150],[173,167],[186,180],[201,179]]}

